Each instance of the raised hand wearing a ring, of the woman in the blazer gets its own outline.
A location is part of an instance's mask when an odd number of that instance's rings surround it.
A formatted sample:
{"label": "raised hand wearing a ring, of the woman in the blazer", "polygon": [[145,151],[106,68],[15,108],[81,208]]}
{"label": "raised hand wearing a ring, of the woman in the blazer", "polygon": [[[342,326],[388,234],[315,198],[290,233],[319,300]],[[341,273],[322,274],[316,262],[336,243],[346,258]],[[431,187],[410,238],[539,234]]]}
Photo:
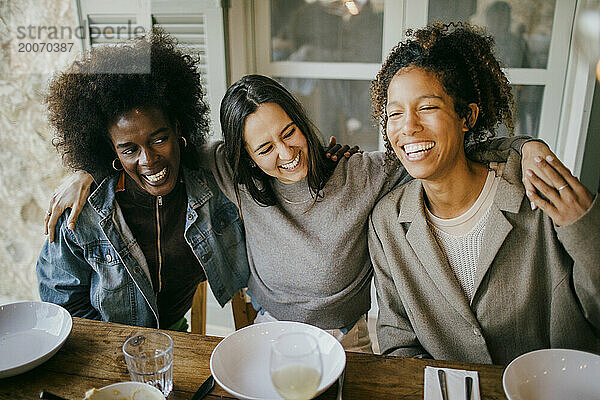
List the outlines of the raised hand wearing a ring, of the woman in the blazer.
{"label": "raised hand wearing a ring, of the woman in the blazer", "polygon": [[535,157],[535,162],[537,169],[548,178],[549,184],[531,169],[526,171],[529,181],[545,197],[527,189],[531,208],[541,208],[557,226],[577,221],[591,207],[592,193],[556,157]]}

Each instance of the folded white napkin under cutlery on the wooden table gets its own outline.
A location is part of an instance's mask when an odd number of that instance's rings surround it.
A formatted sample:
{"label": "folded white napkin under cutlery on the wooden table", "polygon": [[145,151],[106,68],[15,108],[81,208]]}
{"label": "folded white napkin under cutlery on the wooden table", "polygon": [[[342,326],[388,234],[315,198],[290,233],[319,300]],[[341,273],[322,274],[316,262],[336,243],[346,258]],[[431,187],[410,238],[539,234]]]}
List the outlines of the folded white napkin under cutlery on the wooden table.
{"label": "folded white napkin under cutlery on the wooden table", "polygon": [[446,372],[446,387],[448,388],[448,400],[466,399],[465,378],[473,378],[472,400],[481,400],[479,395],[479,374],[477,371],[465,371],[464,369],[425,367],[425,400],[442,400],[442,392],[438,381],[438,369]]}

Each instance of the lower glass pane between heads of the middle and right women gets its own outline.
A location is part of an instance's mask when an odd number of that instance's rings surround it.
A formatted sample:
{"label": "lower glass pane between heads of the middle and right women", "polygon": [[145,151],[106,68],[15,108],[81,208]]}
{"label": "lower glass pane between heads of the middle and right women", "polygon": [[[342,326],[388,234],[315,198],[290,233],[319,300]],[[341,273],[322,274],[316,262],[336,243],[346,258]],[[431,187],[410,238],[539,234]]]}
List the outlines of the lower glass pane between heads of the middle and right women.
{"label": "lower glass pane between heads of the middle and right women", "polygon": [[296,96],[323,135],[362,150],[378,148],[379,133],[371,118],[370,81],[275,78]]}

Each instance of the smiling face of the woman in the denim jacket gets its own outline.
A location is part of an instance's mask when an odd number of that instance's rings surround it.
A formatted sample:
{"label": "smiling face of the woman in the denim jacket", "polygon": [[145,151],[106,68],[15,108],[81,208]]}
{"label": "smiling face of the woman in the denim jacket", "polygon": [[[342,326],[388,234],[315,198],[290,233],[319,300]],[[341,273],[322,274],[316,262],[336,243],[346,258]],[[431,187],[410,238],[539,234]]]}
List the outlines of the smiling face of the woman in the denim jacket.
{"label": "smiling face of the woman in the denim jacket", "polygon": [[108,131],[123,169],[140,188],[153,196],[173,190],[180,162],[178,135],[161,111],[131,110]]}

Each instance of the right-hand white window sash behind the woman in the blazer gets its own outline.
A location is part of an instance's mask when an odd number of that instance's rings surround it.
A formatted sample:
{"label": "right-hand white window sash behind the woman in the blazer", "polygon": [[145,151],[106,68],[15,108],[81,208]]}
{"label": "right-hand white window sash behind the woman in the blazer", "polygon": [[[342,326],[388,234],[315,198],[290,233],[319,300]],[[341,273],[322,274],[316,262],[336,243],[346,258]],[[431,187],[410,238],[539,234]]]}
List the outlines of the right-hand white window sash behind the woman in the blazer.
{"label": "right-hand white window sash behind the woman in the blazer", "polygon": [[574,1],[428,0],[408,2],[408,27],[434,20],[467,21],[487,28],[515,97],[515,133],[550,146],[558,138],[560,111],[575,17]]}

